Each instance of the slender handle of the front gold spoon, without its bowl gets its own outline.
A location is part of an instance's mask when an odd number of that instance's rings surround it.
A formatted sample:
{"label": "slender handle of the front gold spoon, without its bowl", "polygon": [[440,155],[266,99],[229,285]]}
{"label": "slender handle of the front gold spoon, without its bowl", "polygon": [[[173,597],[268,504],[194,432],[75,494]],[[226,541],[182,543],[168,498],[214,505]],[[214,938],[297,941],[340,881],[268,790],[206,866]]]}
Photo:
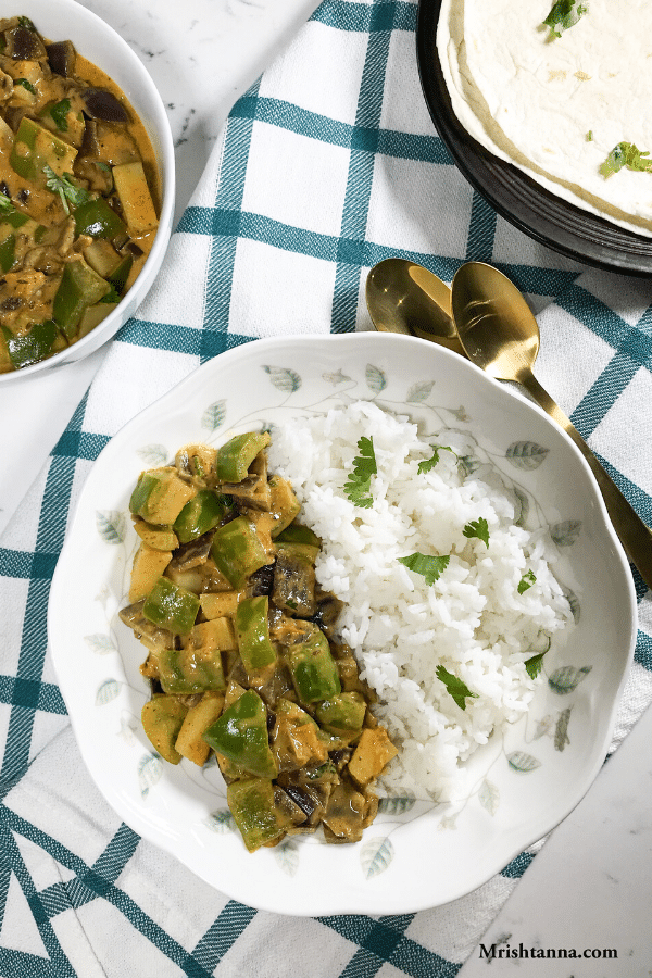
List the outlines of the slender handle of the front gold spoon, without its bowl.
{"label": "slender handle of the front gold spoon, without its bowl", "polygon": [[529,391],[540,408],[555,421],[564,431],[573,439],[580,450],[595,481],[602,492],[606,511],[614,525],[614,529],[620,538],[623,549],[630,563],[637,568],[645,584],[652,589],[652,530],[643,523],[636,510],[630,506],[613,479],[606,474],[595,455],[592,453],[577,428],[568,421],[550,394],[543,390],[537,378],[531,373],[519,377],[523,386]]}

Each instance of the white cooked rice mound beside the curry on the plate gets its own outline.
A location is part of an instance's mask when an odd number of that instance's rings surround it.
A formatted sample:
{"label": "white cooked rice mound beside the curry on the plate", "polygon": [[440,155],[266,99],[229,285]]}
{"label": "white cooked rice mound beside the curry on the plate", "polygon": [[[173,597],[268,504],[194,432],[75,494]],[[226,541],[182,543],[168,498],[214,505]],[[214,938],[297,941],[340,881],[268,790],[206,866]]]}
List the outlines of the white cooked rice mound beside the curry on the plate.
{"label": "white cooked rice mound beside the curry on the plate", "polygon": [[[343,488],[362,437],[373,439],[377,464],[371,509],[353,505]],[[461,764],[527,712],[538,680],[524,662],[572,622],[552,548],[543,532],[515,525],[513,492],[465,476],[447,450],[419,474],[435,446],[454,448],[451,437],[423,440],[406,417],[360,401],[289,422],[268,449],[271,469],[302,504],[300,519],[322,538],[317,579],[346,604],[341,638],[399,747],[378,787],[449,801],[463,790]],[[463,532],[480,517],[488,546]],[[450,554],[431,586],[399,562],[415,552]],[[477,694],[464,710],[437,678],[440,664]]]}

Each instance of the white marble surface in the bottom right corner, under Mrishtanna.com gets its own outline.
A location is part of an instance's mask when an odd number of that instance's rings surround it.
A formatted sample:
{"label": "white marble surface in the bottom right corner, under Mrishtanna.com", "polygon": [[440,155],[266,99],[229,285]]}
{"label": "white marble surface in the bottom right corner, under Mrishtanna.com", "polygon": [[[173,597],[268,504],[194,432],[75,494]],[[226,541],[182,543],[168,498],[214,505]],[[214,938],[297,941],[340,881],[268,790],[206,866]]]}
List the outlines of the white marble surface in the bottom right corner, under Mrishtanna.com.
{"label": "white marble surface in the bottom right corner, under Mrishtanna.com", "polygon": [[549,837],[459,978],[652,975],[651,743],[648,710]]}

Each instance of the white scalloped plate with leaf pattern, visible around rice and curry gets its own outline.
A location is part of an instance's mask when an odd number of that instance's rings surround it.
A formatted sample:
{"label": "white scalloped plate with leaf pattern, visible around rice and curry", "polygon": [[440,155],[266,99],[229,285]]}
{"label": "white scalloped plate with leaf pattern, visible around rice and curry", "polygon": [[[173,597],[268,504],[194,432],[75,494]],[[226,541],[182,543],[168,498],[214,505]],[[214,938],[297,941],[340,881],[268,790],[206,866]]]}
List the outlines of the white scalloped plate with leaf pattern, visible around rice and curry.
{"label": "white scalloped plate with leaf pattern, visible around rice and curry", "polygon": [[[429,431],[467,432],[466,464],[497,469],[516,487],[528,526],[555,540],[555,573],[577,624],[563,651],[548,653],[526,719],[474,755],[468,798],[454,813],[394,798],[360,843],[294,837],[250,855],[217,767],[167,765],[142,732],[143,649],[117,618],[137,539],[128,500],[142,468],[166,463],[187,442],[221,443],[234,431],[356,399],[408,413]],[[82,490],[48,625],[84,760],[135,831],[255,907],[398,914],[475,889],[578,803],[609,750],[634,651],[636,600],[593,478],[561,429],[441,347],[363,333],[258,340],[223,353],[120,431]]]}

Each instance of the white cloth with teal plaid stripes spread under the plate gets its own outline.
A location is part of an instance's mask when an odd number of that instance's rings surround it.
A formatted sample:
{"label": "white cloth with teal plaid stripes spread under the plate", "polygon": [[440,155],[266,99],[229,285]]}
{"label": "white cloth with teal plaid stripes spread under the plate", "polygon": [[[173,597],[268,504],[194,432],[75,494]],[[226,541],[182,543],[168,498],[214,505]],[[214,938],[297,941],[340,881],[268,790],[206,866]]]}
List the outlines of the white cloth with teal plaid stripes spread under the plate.
{"label": "white cloth with teal plaid stripes spread under the plate", "polygon": [[[121,824],[82,765],[48,654],[66,522],[109,439],[238,343],[371,328],[366,274],[391,255],[448,281],[488,261],[530,296],[540,380],[652,523],[652,284],[573,265],[472,190],[427,114],[415,22],[410,0],[325,0],[238,101],[154,290],[0,540],[1,976],[448,978],[536,857],[416,915],[256,913]],[[635,579],[640,631],[614,747],[652,701],[652,602]]]}

